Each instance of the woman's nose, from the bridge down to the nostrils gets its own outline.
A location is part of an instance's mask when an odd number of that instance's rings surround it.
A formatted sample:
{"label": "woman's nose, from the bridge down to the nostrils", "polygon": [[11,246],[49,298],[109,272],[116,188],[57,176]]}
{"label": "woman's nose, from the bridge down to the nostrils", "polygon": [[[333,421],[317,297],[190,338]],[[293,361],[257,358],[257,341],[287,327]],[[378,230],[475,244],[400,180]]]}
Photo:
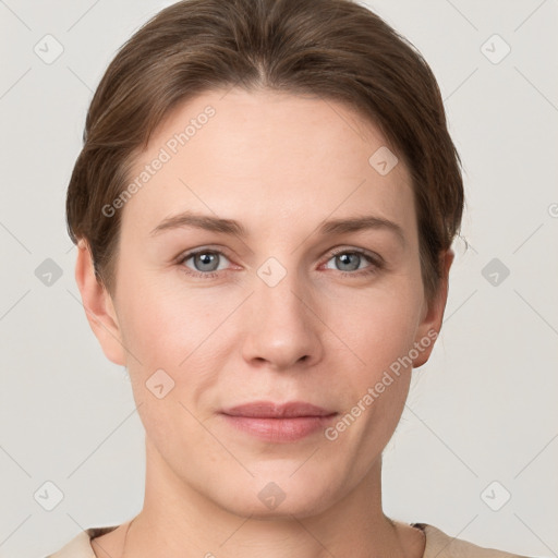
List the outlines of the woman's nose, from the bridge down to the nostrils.
{"label": "woman's nose, from the bridge down to the nostrils", "polygon": [[322,360],[322,330],[311,289],[294,271],[274,287],[255,277],[246,313],[243,356],[277,371]]}

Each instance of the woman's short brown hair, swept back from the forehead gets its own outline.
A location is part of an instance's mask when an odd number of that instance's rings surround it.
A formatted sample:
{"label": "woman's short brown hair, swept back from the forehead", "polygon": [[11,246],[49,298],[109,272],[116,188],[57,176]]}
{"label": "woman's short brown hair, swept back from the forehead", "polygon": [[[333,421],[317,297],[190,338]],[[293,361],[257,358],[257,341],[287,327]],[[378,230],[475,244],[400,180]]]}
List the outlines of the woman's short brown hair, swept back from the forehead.
{"label": "woman's short brown hair, swept back from the forehead", "polygon": [[102,207],[134,156],[179,102],[240,86],[342,101],[376,124],[411,173],[424,290],[441,277],[463,210],[459,154],[436,78],[421,53],[352,0],[184,0],[119,50],[95,92],[68,187],[68,230],[86,239],[111,290],[121,211]]}

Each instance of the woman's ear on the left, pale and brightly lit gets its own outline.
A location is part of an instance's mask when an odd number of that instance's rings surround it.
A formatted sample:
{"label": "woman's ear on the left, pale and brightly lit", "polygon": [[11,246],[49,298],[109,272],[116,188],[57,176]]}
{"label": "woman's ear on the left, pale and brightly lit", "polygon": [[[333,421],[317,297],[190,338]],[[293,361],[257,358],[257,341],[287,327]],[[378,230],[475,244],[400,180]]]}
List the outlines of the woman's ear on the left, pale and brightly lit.
{"label": "woman's ear on the left, pale and brightly lit", "polygon": [[87,320],[105,355],[114,364],[125,366],[125,349],[112,299],[95,274],[89,245],[83,239],[77,243],[75,281]]}

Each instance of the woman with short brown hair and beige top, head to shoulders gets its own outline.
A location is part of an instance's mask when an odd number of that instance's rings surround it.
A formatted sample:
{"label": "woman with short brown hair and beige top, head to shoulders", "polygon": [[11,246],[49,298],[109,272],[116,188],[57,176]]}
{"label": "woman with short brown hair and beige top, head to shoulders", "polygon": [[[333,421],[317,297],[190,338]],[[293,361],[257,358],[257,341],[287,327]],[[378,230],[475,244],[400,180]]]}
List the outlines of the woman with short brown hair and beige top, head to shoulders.
{"label": "woman with short brown hair and beige top, head to shoulders", "polygon": [[117,54],[84,138],[76,281],[146,492],[53,557],[517,556],[383,512],[463,208],[412,46],[349,0],[186,0]]}

